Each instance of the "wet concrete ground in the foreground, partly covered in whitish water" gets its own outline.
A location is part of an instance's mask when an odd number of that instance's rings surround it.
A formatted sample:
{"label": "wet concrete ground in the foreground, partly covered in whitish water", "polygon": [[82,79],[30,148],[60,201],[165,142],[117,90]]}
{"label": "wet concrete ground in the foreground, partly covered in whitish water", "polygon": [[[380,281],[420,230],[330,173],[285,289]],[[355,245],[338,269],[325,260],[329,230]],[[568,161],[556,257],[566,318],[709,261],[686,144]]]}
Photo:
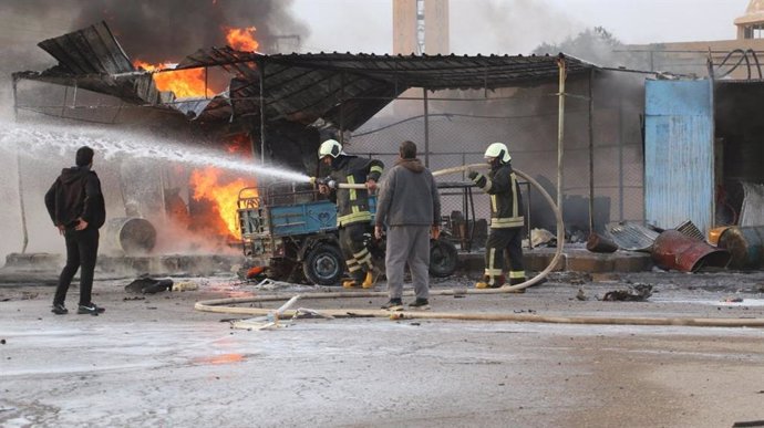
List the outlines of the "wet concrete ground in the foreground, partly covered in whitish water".
{"label": "wet concrete ground in the foreground, partly covered in whitish water", "polygon": [[[76,289],[72,313],[53,315],[52,286],[0,285],[0,426],[764,426],[764,328],[345,317],[248,331],[230,324],[246,315],[195,302],[314,289],[224,275],[142,295],[125,292],[131,280],[96,281],[101,316],[74,313]],[[598,300],[640,283],[653,286],[646,302]],[[557,272],[525,294],[431,301],[451,313],[764,319],[763,293],[762,272]]]}

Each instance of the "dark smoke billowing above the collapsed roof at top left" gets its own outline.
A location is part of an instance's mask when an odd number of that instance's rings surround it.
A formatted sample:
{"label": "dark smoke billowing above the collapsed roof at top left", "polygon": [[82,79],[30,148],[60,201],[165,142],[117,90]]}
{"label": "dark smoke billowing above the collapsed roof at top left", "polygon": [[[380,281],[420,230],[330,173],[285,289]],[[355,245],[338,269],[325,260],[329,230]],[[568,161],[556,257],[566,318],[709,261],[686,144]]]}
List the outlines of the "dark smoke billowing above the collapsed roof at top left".
{"label": "dark smoke billowing above the collapsed roof at top left", "polygon": [[[3,13],[37,21],[69,19],[66,31],[105,21],[132,59],[178,61],[200,48],[226,44],[225,28],[255,27],[259,50],[272,53],[285,35],[304,40],[308,27],[289,11],[291,0],[24,0],[0,7]],[[279,43],[281,42],[281,43]],[[291,52],[291,51],[290,51]]]}

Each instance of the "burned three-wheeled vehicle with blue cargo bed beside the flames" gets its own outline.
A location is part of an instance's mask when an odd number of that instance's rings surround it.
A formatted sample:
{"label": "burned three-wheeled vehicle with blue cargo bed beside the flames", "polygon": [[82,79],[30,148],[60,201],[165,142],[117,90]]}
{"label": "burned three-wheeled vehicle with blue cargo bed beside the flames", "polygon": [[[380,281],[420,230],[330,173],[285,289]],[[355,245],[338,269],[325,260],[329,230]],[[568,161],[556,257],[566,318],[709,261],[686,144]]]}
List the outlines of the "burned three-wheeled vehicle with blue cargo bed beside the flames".
{"label": "burned three-wheeled vehicle with blue cargo bed beside the flames", "polygon": [[[372,213],[375,201],[372,197]],[[237,203],[248,276],[319,285],[340,282],[347,268],[333,202],[310,186],[280,185],[244,188]],[[447,231],[430,241],[433,276],[448,276],[456,270],[457,250],[446,237]],[[375,239],[370,227],[365,244],[374,265],[384,272],[384,238]]]}

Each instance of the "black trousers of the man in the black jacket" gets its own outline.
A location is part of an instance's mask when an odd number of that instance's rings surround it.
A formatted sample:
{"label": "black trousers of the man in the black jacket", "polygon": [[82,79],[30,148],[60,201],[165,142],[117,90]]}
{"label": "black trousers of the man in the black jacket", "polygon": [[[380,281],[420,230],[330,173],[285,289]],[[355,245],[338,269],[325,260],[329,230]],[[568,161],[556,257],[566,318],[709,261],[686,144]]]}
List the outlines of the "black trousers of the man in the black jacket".
{"label": "black trousers of the man in the black jacket", "polygon": [[95,271],[95,259],[99,253],[99,229],[86,228],[85,230],[66,230],[66,265],[59,276],[59,285],[55,288],[53,304],[63,304],[66,300],[69,285],[78,269],[80,272],[80,304],[91,304],[91,293],[93,291],[93,271]]}

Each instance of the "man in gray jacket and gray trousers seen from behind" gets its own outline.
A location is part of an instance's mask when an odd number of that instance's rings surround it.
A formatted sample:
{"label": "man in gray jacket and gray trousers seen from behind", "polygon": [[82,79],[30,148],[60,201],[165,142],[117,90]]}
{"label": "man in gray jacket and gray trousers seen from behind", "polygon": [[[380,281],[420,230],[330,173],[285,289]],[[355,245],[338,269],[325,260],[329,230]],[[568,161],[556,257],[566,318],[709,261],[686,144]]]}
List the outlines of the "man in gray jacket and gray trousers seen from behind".
{"label": "man in gray jacket and gray trousers seen from behind", "polygon": [[416,145],[401,143],[400,158],[384,177],[376,201],[374,234],[388,228],[385,275],[390,301],[382,309],[403,310],[403,274],[411,270],[416,300],[412,309],[430,309],[430,231],[440,233],[441,197],[432,173],[416,158]]}

